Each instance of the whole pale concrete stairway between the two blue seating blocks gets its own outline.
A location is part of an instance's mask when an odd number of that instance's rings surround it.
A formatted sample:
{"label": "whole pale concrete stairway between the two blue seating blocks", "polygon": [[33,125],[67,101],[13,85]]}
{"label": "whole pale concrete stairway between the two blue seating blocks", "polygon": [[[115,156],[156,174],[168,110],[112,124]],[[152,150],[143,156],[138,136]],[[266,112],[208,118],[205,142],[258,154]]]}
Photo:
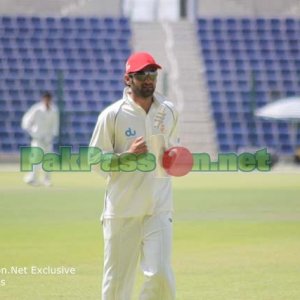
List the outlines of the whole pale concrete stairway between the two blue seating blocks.
{"label": "whole pale concrete stairway between the two blue seating blocks", "polygon": [[[215,128],[194,24],[133,23],[133,36],[134,50],[149,51],[167,72],[167,96],[180,113],[181,144],[215,157]],[[157,89],[162,91],[161,81]]]}

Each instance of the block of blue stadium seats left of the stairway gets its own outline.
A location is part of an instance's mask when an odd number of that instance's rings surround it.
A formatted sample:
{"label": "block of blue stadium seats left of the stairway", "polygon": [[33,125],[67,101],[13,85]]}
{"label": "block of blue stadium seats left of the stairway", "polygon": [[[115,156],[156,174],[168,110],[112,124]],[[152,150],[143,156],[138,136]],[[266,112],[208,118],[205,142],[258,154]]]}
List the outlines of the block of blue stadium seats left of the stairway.
{"label": "block of blue stadium seats left of the stairway", "polygon": [[44,90],[62,111],[61,144],[87,145],[99,112],[122,95],[130,40],[126,18],[0,17],[0,152],[28,145],[21,118]]}

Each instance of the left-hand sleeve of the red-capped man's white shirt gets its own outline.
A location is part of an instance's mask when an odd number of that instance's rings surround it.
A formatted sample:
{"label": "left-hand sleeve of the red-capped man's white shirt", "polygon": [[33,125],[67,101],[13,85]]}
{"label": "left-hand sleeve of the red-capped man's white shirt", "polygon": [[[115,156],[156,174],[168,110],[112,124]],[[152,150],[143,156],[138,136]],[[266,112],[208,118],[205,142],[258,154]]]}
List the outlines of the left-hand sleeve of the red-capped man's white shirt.
{"label": "left-hand sleeve of the red-capped man's white shirt", "polygon": [[114,152],[114,122],[113,112],[102,112],[98,117],[89,145],[89,161],[92,164],[92,170],[105,178],[109,177],[110,173],[101,169],[100,159],[103,154]]}

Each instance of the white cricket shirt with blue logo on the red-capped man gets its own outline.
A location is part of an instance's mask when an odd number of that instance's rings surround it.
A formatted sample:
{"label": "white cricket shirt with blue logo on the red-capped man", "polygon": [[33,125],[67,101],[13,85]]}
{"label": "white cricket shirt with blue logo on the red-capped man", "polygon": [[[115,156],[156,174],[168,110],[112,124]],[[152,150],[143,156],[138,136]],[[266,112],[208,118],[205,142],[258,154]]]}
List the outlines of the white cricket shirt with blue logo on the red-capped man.
{"label": "white cricket shirt with blue logo on the red-capped man", "polygon": [[[153,153],[154,135],[164,136],[166,149],[177,145],[178,114],[174,105],[154,93],[154,101],[146,113],[127,93],[128,88],[125,88],[123,98],[101,112],[90,146],[100,148],[102,153],[120,154],[129,149],[134,139],[143,136],[148,151]],[[159,118],[162,108],[163,117]],[[108,180],[103,217],[134,217],[173,210],[169,176],[158,178],[155,171],[106,173],[99,165],[93,168]]]}

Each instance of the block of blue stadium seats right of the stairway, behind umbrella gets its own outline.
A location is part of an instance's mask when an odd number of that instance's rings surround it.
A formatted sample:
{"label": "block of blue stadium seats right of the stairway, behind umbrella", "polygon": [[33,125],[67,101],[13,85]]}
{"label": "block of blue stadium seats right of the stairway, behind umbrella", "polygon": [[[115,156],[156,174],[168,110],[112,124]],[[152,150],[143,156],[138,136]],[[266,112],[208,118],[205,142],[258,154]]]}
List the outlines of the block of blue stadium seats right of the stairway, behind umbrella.
{"label": "block of blue stadium seats right of the stairway, behind umbrella", "polygon": [[300,20],[200,18],[197,32],[220,151],[292,153],[291,126],[257,120],[253,110],[300,95]]}

